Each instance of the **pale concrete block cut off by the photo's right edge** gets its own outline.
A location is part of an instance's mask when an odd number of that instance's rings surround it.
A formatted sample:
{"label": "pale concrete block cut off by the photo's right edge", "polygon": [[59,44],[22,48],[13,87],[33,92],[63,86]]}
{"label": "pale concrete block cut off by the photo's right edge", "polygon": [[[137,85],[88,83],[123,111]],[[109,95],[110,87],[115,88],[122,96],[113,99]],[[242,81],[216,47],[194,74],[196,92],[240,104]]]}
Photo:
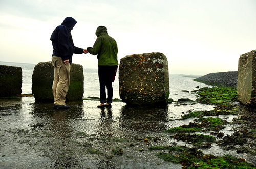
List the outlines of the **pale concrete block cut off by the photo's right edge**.
{"label": "pale concrete block cut off by the photo's right edge", "polygon": [[238,101],[256,106],[256,50],[242,54],[238,64]]}

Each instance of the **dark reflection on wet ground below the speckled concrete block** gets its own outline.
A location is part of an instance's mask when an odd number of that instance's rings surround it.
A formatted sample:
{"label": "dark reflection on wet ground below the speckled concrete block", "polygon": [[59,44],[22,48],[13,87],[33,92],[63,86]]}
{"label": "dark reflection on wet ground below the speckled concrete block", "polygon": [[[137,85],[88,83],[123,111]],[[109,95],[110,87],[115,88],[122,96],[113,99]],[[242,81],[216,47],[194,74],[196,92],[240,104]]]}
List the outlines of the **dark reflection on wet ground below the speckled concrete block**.
{"label": "dark reflection on wet ground below the speckled concrete block", "polygon": [[123,106],[120,114],[122,128],[135,131],[161,132],[166,130],[168,107],[129,107]]}

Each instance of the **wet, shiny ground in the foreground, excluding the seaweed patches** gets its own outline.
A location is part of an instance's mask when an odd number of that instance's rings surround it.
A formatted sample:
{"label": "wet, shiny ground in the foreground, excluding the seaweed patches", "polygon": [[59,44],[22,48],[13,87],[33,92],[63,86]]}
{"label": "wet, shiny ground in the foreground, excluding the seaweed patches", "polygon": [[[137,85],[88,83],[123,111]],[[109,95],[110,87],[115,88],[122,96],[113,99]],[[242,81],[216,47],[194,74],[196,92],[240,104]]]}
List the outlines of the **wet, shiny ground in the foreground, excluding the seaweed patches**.
{"label": "wet, shiny ground in the foreground, excluding the seaweed patches", "polygon": [[[163,131],[193,121],[179,120],[188,110],[213,108],[200,103],[136,108],[114,102],[111,109],[99,109],[98,104],[74,101],[67,102],[70,109],[54,110],[53,103],[35,102],[33,97],[0,99],[0,168],[182,168],[158,158],[160,150],[148,147],[189,146]],[[234,117],[221,116],[227,121]],[[232,127],[227,125],[222,132],[231,135]],[[154,139],[145,142],[146,138]],[[217,145],[202,151],[253,162],[246,154]]]}

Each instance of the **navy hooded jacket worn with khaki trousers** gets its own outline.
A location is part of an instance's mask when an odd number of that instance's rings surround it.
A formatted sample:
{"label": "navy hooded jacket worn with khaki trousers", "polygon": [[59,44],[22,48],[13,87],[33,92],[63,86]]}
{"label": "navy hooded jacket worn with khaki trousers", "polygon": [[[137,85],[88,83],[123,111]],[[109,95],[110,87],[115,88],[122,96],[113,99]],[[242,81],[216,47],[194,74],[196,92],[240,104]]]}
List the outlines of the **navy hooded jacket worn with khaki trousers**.
{"label": "navy hooded jacket worn with khaki trousers", "polygon": [[61,25],[57,26],[53,31],[50,40],[52,41],[53,53],[57,57],[61,57],[63,61],[69,60],[72,63],[73,54],[82,54],[83,49],[74,46],[71,36],[71,30],[77,21],[72,17],[64,19]]}

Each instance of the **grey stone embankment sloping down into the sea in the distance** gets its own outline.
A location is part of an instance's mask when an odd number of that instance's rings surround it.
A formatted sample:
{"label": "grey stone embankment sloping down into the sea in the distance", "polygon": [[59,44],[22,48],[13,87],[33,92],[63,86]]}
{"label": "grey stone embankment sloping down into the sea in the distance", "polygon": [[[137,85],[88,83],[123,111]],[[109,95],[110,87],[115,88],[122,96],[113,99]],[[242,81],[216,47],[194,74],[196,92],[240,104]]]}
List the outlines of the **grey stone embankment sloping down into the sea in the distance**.
{"label": "grey stone embankment sloping down into the sea in the distance", "polygon": [[228,87],[237,87],[238,71],[209,73],[196,78],[195,81],[203,82],[212,86],[221,84]]}

